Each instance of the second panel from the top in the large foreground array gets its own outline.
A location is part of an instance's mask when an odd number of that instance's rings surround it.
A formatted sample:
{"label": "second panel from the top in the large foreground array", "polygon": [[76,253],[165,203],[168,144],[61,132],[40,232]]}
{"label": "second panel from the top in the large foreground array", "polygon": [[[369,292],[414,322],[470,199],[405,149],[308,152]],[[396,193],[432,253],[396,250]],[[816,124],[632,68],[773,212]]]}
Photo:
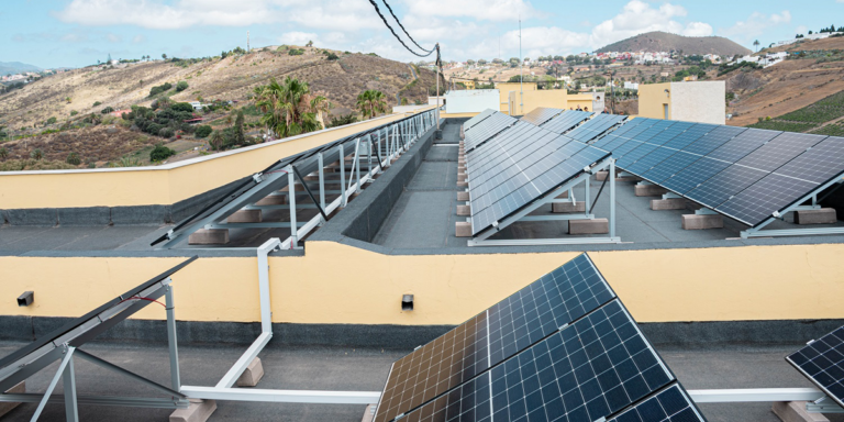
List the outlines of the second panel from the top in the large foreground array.
{"label": "second panel from the top in the large foreground array", "polygon": [[[476,421],[478,415],[487,420],[491,412],[493,421],[598,421],[674,380],[635,321],[613,300],[481,374],[471,388],[430,402],[407,418]],[[479,387],[484,384],[489,387]]]}

